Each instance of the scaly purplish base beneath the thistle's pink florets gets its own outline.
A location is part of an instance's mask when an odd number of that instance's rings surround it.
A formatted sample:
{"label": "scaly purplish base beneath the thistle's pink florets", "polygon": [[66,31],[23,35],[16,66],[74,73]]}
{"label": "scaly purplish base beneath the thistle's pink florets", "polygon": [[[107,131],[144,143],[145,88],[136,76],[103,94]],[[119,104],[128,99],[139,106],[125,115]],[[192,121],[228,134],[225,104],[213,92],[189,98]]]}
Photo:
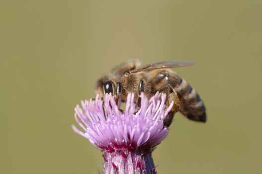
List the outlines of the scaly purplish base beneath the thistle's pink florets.
{"label": "scaly purplish base beneath the thistle's pink florets", "polygon": [[157,174],[151,152],[103,152],[103,174]]}

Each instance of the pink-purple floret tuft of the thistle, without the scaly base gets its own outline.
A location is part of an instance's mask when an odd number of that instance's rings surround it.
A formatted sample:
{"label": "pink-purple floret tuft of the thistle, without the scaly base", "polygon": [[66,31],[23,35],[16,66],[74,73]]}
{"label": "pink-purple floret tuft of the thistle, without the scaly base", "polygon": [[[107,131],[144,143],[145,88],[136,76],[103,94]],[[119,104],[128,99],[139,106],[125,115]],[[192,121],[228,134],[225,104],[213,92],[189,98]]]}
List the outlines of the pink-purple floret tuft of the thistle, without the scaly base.
{"label": "pink-purple floret tuft of the thistle, without the scaly base", "polygon": [[166,106],[166,94],[157,92],[148,99],[141,94],[141,107],[137,108],[134,94],[129,93],[126,106],[121,111],[111,94],[104,100],[82,101],[82,108],[75,108],[75,119],[82,131],[74,125],[74,131],[86,137],[100,150],[117,151],[153,149],[168,134],[163,120],[173,106]]}

